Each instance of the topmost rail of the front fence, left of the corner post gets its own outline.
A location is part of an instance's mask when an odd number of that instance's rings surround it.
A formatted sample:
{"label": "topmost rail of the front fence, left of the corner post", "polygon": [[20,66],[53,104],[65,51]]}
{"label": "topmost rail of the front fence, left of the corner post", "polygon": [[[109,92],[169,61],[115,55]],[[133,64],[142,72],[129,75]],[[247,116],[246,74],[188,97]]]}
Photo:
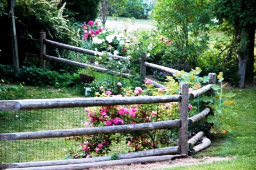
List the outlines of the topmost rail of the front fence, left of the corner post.
{"label": "topmost rail of the front fence, left of the corner post", "polygon": [[180,102],[180,95],[1,100],[0,111]]}

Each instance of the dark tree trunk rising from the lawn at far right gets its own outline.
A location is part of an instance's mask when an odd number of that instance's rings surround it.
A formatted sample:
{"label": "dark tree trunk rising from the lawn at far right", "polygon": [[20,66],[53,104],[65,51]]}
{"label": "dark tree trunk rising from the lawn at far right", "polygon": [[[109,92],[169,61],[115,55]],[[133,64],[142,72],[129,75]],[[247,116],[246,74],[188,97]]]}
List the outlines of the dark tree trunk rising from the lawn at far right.
{"label": "dark tree trunk rising from the lawn at far right", "polygon": [[239,88],[245,87],[245,75],[246,75],[246,65],[249,60],[249,31],[250,26],[246,25],[241,28],[241,35],[240,35],[240,44],[238,47],[238,74],[240,76],[239,80]]}

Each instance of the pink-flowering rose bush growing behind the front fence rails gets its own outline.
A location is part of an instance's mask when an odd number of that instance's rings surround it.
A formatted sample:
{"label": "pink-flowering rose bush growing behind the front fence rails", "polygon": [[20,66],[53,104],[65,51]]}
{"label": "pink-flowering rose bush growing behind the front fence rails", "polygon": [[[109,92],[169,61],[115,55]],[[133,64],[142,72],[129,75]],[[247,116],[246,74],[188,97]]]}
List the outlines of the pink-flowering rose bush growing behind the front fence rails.
{"label": "pink-flowering rose bush growing behind the front fence rails", "polygon": [[[117,83],[117,86],[122,86]],[[178,84],[174,84],[178,87]],[[176,88],[176,87],[175,87]],[[103,86],[99,87],[97,97],[122,98],[125,96],[149,96],[149,95],[166,95],[175,94],[176,91],[168,91],[163,88],[155,88],[150,80],[145,80],[142,87],[126,88],[125,95],[113,95]],[[190,112],[195,111],[196,107],[189,105]],[[162,103],[162,104],[137,104],[129,106],[104,106],[85,108],[85,126],[102,127],[102,126],[119,126],[123,124],[137,124],[159,122],[164,120],[178,119],[179,103]],[[116,134],[101,134],[82,137],[70,137],[69,140],[79,142],[80,152],[76,156],[88,157],[89,155],[105,155],[110,151],[110,145],[113,140],[125,140],[127,147],[131,151],[142,151],[145,149],[161,148],[176,144],[175,130],[161,129],[154,131],[142,131],[121,133],[117,139]],[[71,157],[74,157],[71,156]]]}

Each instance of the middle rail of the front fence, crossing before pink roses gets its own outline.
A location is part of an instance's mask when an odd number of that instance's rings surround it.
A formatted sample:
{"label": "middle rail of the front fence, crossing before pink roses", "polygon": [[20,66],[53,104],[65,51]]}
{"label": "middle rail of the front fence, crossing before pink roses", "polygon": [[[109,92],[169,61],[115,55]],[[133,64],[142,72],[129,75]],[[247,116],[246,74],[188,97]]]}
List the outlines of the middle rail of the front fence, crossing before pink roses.
{"label": "middle rail of the front fence, crossing before pink roses", "polygon": [[179,128],[179,127],[181,127],[181,120],[167,120],[162,122],[126,124],[126,125],[119,125],[119,126],[61,129],[61,130],[37,131],[37,132],[1,133],[0,141],[97,135],[102,133],[104,134],[127,133],[127,132],[150,131],[154,129],[170,129],[170,128]]}

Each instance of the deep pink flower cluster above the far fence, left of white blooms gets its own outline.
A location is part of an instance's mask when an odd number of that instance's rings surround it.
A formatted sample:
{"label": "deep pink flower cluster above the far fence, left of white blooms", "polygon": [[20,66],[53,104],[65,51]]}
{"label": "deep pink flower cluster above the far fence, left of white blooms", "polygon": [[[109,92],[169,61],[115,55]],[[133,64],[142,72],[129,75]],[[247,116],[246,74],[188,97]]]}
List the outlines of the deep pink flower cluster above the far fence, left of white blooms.
{"label": "deep pink flower cluster above the far fence, left of white blooms", "polygon": [[[97,29],[93,30],[93,27],[97,27]],[[86,41],[89,37],[96,37],[98,34],[101,34],[104,28],[99,27],[97,22],[89,21],[86,25],[86,22],[82,25],[83,28],[83,39]]]}

